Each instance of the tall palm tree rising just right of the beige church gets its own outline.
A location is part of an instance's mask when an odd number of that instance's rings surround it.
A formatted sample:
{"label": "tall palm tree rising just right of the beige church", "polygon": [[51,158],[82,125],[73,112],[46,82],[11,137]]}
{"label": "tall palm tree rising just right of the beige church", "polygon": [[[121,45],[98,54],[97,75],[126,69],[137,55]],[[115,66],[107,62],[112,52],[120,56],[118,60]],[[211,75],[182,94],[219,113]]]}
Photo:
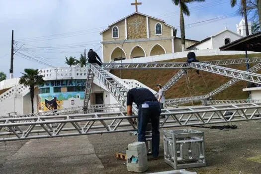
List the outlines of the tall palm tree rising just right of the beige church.
{"label": "tall palm tree rising just right of the beige church", "polygon": [[172,0],[172,2],[175,5],[179,5],[179,25],[180,25],[180,37],[181,37],[181,46],[182,46],[182,51],[185,51],[185,24],[184,24],[184,16],[190,15],[187,3],[192,3],[192,2],[204,2],[205,0]]}

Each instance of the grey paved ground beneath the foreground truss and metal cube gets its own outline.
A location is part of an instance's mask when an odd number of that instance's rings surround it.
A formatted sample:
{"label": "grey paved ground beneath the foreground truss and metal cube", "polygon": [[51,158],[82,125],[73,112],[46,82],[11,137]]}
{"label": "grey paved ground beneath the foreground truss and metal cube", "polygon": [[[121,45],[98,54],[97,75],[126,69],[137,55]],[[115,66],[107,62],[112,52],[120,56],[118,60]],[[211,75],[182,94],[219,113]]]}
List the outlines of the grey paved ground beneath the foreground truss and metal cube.
{"label": "grey paved ground beneath the foreground truss and metal cube", "polygon": [[[188,171],[261,174],[261,121],[233,124],[239,128],[193,128],[205,132],[207,167]],[[124,151],[135,140],[125,132],[0,142],[0,174],[128,174],[125,161],[117,160],[115,152]],[[147,173],[173,170],[164,163],[163,151],[161,140],[160,159],[149,157]]]}

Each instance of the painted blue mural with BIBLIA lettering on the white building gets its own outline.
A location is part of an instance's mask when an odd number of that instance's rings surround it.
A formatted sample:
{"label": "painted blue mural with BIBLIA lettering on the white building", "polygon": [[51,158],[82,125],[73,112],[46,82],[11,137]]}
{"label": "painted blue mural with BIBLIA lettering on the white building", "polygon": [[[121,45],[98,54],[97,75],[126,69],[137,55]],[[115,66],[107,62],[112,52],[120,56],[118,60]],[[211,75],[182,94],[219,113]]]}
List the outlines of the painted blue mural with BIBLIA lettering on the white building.
{"label": "painted blue mural with BIBLIA lettering on the white building", "polygon": [[54,97],[57,97],[58,109],[83,106],[85,84],[85,80],[47,81],[39,87],[38,110],[52,110],[50,106]]}

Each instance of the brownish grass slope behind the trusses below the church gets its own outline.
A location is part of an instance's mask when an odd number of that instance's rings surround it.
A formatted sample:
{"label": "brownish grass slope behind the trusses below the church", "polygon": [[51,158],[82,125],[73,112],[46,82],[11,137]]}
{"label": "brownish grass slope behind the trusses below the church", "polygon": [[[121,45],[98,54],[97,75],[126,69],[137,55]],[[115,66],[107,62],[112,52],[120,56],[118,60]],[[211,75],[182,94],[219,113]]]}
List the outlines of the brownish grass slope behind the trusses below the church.
{"label": "brownish grass slope behind the trusses below the church", "polygon": [[[260,57],[261,54],[252,54],[249,57]],[[225,59],[238,59],[245,58],[245,55],[223,55],[223,56],[199,56],[197,59],[199,61],[211,61],[211,60],[225,60]],[[185,62],[186,58],[174,59],[161,62]],[[250,64],[252,67],[255,64]],[[246,70],[245,64],[240,65],[230,65],[228,68]],[[177,72],[178,70],[122,70],[122,79],[135,79],[140,81],[144,85],[157,90],[156,84],[165,85]],[[120,77],[120,70],[112,70],[112,74]],[[258,73],[261,73],[258,72]],[[200,72],[200,75],[195,73],[195,70],[188,70],[188,79],[184,76],[182,77],[173,87],[171,87],[166,92],[166,98],[179,98],[207,94],[208,92],[220,87],[231,78],[220,76],[217,74],[212,74],[208,72]],[[204,83],[205,81],[205,83]],[[224,99],[247,99],[248,93],[243,92],[242,89],[245,88],[247,82],[240,81],[232,87],[218,93],[214,96],[215,100]],[[190,90],[190,92],[189,92]]]}

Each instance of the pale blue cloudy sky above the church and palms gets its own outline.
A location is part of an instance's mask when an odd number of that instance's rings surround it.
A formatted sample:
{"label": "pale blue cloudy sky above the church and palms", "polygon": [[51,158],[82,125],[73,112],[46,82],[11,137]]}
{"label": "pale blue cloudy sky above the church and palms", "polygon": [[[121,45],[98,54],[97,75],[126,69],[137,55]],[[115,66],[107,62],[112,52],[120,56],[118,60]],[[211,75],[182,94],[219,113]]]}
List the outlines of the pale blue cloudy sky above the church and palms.
{"label": "pale blue cloudy sky above the church and palms", "polygon": [[[11,30],[14,30],[14,77],[24,68],[46,68],[29,57],[54,67],[66,66],[65,56],[79,58],[84,49],[100,54],[99,32],[109,24],[135,11],[135,0],[0,0],[0,71],[9,77]],[[158,17],[179,27],[179,8],[172,0],[139,0],[141,13]],[[230,0],[206,0],[189,4],[185,25],[227,17],[236,11]],[[202,40],[227,26],[236,31],[241,16],[185,26],[186,38]],[[180,36],[180,30],[177,31]],[[25,59],[27,58],[27,59]]]}

